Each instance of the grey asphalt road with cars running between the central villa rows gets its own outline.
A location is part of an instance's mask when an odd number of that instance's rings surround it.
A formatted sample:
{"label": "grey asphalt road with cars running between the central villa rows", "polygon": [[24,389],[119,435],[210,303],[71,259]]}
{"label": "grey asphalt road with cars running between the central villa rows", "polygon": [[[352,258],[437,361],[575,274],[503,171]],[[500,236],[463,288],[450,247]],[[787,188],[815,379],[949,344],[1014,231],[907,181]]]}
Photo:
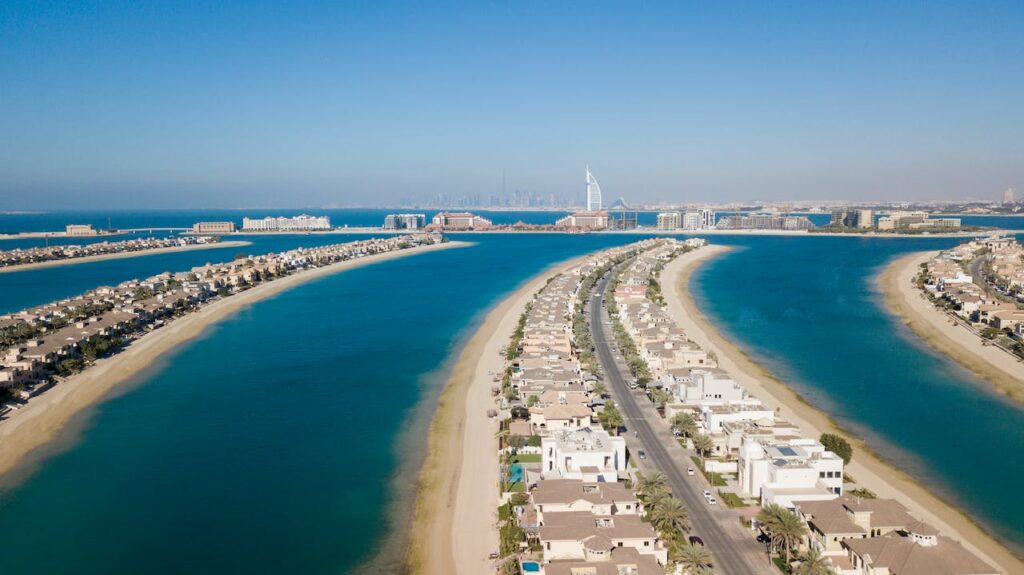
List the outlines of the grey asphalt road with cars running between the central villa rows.
{"label": "grey asphalt road with cars running between the central villa rows", "polygon": [[[602,305],[607,283],[607,276],[597,282],[596,297],[590,300],[588,316],[608,390],[620,406],[628,431],[636,434],[626,435],[627,445],[631,453],[636,454],[638,449],[646,453],[646,459],[634,457],[634,462],[643,472],[657,470],[665,474],[673,494],[689,511],[691,534],[699,536],[715,556],[717,572],[728,575],[774,573],[764,547],[740,525],[739,514],[724,503],[708,504],[702,492],[705,489],[714,491],[711,484],[699,474],[686,475],[686,468],[693,467],[690,460],[692,452],[679,445],[669,426],[659,421],[653,404],[645,396],[629,389],[626,383],[629,371],[612,352],[614,337],[607,310]],[[637,401],[638,396],[641,401]]]}

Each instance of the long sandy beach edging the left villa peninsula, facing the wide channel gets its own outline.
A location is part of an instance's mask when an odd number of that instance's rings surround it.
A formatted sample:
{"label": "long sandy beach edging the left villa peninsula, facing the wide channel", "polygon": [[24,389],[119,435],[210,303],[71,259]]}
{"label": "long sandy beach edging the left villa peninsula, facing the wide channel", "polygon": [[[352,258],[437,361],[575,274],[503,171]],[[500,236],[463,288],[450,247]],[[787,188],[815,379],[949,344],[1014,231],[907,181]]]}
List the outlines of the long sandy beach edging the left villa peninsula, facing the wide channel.
{"label": "long sandy beach edging the left villa peninsula, facing the wide channel", "polygon": [[68,422],[76,414],[100,401],[118,385],[128,382],[141,369],[152,365],[162,354],[196,338],[207,326],[246,306],[301,283],[356,267],[465,246],[469,244],[452,241],[412,248],[299,272],[218,300],[146,334],[120,353],[98,360],[95,365],[33,398],[25,407],[0,421],[0,475],[11,472],[33,450],[57,438]]}

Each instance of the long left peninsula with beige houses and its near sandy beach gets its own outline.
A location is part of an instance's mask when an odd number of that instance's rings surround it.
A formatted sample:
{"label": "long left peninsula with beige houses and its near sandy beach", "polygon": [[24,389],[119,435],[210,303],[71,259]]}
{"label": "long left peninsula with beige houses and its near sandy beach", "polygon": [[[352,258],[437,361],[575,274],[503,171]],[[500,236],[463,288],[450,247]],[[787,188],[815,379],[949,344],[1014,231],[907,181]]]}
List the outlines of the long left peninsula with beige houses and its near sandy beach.
{"label": "long left peninsula with beige houses and its near sandy beach", "polygon": [[155,359],[254,302],[329,274],[467,246],[437,234],[369,239],[165,273],[0,316],[0,474]]}

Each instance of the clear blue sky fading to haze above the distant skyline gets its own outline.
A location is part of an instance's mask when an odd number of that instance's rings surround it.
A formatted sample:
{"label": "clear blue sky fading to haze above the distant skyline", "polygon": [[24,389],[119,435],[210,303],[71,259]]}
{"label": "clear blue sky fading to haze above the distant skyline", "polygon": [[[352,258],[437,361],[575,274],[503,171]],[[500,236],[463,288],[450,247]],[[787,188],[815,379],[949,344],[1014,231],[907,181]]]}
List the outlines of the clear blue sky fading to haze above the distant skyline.
{"label": "clear blue sky fading to haze above the distant skyline", "polygon": [[6,0],[0,210],[994,200],[1022,105],[1020,0]]}

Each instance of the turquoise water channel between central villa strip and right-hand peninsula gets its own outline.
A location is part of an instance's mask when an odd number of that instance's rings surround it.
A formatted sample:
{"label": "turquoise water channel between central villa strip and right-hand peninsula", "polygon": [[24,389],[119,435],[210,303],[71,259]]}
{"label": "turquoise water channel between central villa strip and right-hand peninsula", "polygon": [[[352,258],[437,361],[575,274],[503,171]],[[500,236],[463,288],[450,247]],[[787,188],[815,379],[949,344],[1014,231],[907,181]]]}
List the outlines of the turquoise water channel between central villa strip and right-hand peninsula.
{"label": "turquoise water channel between central villa strip and right-hand peninsula", "polygon": [[697,305],[811,403],[1024,547],[1024,409],[882,308],[874,276],[949,239],[752,237],[693,275]]}

